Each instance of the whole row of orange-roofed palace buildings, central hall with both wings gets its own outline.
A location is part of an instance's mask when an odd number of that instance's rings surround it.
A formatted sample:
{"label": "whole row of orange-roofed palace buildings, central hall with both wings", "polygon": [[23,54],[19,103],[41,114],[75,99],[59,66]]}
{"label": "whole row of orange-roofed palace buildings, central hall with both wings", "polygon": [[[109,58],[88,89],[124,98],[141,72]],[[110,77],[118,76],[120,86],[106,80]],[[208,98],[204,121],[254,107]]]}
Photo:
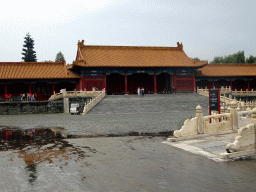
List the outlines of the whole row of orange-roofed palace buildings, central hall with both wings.
{"label": "whole row of orange-roofed palace buildings, central hall with both wings", "polygon": [[208,64],[192,60],[177,47],[92,46],[78,41],[75,61],[0,62],[0,97],[37,93],[98,90],[108,94],[196,92],[196,87],[256,89],[256,64]]}

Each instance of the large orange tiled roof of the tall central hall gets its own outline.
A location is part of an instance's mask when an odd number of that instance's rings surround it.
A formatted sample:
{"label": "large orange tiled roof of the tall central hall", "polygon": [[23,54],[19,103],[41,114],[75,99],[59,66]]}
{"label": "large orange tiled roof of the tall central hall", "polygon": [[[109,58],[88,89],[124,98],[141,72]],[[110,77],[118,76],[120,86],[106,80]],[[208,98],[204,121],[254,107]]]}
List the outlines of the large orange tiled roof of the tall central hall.
{"label": "large orange tiled roof of the tall central hall", "polygon": [[[85,46],[78,42],[78,61],[82,67],[199,67],[207,61],[191,60],[177,47]],[[81,62],[82,61],[82,62]],[[72,66],[69,66],[71,68]]]}

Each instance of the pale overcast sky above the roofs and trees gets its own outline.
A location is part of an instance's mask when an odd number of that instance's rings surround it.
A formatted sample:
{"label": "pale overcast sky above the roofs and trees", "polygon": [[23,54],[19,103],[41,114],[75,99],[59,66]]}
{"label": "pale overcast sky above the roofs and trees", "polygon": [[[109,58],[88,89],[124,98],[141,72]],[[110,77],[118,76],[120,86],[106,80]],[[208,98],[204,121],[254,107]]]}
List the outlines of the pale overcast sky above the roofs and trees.
{"label": "pale overcast sky above the roofs and trees", "polygon": [[1,1],[0,62],[20,62],[24,37],[38,62],[76,58],[85,45],[167,46],[211,61],[244,51],[256,56],[255,0]]}

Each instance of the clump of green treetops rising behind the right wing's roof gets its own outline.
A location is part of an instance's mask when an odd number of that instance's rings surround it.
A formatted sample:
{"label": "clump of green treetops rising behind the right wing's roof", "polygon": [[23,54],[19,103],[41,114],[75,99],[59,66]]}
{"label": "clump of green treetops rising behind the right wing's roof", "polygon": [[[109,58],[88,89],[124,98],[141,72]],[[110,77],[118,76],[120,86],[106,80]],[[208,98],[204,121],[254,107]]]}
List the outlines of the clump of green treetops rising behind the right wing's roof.
{"label": "clump of green treetops rising behind the right wing's roof", "polygon": [[238,51],[225,57],[214,57],[211,63],[245,63],[244,51]]}

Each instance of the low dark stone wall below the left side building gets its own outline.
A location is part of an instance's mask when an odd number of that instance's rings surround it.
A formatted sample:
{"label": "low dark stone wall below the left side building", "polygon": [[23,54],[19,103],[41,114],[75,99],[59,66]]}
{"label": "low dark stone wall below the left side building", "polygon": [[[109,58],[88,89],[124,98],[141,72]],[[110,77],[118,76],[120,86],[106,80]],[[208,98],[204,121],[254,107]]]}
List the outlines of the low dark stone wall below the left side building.
{"label": "low dark stone wall below the left side building", "polygon": [[63,113],[63,101],[0,102],[0,115]]}

